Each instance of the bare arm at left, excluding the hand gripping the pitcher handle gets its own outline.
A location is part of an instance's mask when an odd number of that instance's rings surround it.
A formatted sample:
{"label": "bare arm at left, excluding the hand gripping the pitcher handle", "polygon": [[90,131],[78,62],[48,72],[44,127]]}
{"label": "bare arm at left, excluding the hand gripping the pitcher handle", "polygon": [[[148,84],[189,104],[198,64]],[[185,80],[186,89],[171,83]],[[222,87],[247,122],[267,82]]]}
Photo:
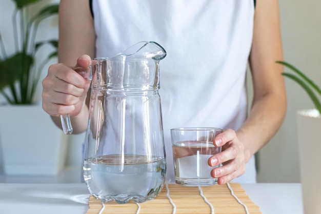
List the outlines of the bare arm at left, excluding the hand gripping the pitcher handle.
{"label": "bare arm at left, excluding the hand gripping the pitcher handle", "polygon": [[[94,57],[95,33],[93,20],[86,0],[61,1],[59,5],[58,62],[73,67],[83,54]],[[73,133],[86,131],[88,123],[89,93],[79,114],[70,117]],[[59,116],[51,116],[60,128]]]}

